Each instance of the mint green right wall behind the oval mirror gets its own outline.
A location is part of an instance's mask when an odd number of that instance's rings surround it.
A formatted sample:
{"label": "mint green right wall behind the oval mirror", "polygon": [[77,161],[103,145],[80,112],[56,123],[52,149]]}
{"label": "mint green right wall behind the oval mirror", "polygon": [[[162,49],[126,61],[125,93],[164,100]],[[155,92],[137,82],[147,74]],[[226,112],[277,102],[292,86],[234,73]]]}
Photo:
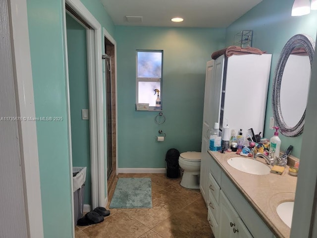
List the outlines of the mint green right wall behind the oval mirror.
{"label": "mint green right wall behind the oval mirror", "polygon": [[[294,0],[263,0],[245,15],[240,17],[226,28],[225,45],[233,44],[234,34],[242,30],[253,30],[253,47],[272,54],[271,72],[266,104],[266,116],[264,136],[273,136],[273,130],[269,129],[269,119],[272,117],[271,90],[274,72],[279,55],[285,43],[294,35],[305,33],[316,39],[317,11],[309,15],[292,17],[292,5]],[[252,89],[256,92],[259,89]],[[289,145],[294,146],[293,155],[300,157],[302,147],[302,135],[298,137],[285,137],[280,133],[282,140],[281,150],[286,150]]]}

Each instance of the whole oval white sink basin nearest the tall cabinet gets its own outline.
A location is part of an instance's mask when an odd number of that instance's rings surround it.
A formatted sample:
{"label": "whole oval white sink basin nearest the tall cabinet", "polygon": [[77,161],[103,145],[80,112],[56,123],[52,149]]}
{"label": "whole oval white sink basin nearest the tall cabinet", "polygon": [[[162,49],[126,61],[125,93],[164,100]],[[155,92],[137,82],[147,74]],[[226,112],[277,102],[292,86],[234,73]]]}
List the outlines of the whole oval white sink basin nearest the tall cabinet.
{"label": "whole oval white sink basin nearest the tall cabinet", "polygon": [[268,175],[271,171],[262,162],[245,157],[230,158],[227,162],[231,167],[252,175]]}

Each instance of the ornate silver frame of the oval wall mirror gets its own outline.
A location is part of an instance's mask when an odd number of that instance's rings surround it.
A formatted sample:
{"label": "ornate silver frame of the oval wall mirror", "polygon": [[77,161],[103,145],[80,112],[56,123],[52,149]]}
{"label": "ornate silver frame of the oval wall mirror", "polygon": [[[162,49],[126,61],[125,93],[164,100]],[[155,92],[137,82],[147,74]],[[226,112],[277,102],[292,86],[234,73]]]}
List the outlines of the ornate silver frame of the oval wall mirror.
{"label": "ornate silver frame of the oval wall mirror", "polygon": [[290,54],[292,53],[292,51],[297,45],[303,45],[304,48],[306,49],[310,62],[311,62],[311,68],[312,68],[314,48],[315,48],[314,40],[308,35],[297,34],[288,40],[288,42],[285,44],[280,54],[280,57],[275,69],[274,81],[272,86],[272,109],[273,109],[273,117],[275,120],[275,124],[279,127],[280,132],[283,135],[288,137],[296,137],[303,133],[305,114],[306,114],[306,110],[305,110],[299,122],[295,126],[290,127],[285,123],[283,119],[282,112],[281,112],[281,105],[280,105],[280,89],[281,89],[283,71]]}

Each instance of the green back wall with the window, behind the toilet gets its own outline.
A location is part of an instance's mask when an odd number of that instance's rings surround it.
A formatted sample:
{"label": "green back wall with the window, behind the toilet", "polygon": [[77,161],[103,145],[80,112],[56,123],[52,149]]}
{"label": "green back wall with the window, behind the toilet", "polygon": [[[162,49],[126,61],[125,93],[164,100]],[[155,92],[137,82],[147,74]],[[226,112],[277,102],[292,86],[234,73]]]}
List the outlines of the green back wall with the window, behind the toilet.
{"label": "green back wall with the window, behind the toilet", "polygon": [[[224,29],[115,28],[117,42],[118,168],[164,168],[170,148],[200,151],[206,62],[224,46]],[[136,50],[163,50],[163,124],[158,112],[135,111]],[[159,129],[166,133],[157,142]]]}

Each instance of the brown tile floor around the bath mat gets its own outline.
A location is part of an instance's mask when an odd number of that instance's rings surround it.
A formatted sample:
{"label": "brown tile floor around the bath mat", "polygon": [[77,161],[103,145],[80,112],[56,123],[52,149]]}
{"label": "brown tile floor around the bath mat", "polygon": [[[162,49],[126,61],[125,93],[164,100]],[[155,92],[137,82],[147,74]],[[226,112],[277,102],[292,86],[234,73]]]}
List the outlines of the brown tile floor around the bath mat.
{"label": "brown tile floor around the bath mat", "polygon": [[165,174],[119,174],[117,177],[150,177],[153,207],[109,209],[113,186],[106,206],[110,216],[99,224],[76,226],[75,238],[214,238],[198,189],[184,188],[180,179],[169,179]]}

